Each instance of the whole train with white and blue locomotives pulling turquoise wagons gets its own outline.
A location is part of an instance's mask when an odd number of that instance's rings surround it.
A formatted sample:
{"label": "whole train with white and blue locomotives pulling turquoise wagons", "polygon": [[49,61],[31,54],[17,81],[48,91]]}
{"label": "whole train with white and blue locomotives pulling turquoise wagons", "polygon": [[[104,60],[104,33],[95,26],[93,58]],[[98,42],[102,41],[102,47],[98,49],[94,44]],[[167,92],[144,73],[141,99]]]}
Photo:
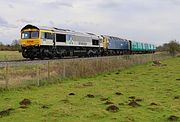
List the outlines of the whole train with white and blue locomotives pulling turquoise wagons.
{"label": "whole train with white and blue locomotives pulling turquoise wagons", "polygon": [[108,35],[26,25],[21,29],[22,56],[29,59],[154,53],[156,46]]}

